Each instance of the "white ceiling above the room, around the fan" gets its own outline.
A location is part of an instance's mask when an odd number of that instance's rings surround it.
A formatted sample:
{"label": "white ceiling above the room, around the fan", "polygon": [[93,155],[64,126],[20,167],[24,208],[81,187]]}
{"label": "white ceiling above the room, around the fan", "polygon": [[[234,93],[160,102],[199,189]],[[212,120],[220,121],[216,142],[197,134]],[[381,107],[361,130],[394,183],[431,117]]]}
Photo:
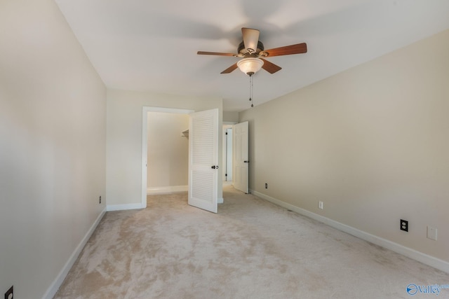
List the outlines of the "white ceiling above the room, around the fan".
{"label": "white ceiling above the room, around the fan", "polygon": [[249,77],[196,52],[236,53],[241,27],[266,49],[308,48],[267,58],[283,69],[254,75],[255,105],[449,29],[448,0],[55,1],[108,88],[221,97],[225,111],[248,109]]}

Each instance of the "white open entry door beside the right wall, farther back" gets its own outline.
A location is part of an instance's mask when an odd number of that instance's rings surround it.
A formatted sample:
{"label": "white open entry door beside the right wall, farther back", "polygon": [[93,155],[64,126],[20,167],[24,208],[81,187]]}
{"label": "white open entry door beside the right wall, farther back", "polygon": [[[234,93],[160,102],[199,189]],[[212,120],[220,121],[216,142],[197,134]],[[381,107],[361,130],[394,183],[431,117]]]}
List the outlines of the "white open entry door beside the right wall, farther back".
{"label": "white open entry door beside the right wall, farther back", "polygon": [[234,188],[248,193],[248,122],[238,123],[232,129],[233,134],[233,179]]}

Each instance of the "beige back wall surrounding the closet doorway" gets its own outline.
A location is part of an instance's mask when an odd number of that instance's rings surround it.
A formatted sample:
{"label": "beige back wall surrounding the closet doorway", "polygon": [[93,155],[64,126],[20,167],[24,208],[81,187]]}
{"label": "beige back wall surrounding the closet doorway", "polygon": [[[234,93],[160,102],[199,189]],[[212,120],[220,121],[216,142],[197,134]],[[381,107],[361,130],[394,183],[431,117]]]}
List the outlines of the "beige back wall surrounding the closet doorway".
{"label": "beige back wall surrounding the closet doorway", "polygon": [[[107,205],[135,205],[142,202],[142,109],[144,106],[203,111],[219,109],[222,99],[162,95],[154,92],[107,90]],[[219,136],[218,160],[222,160]],[[221,173],[219,172],[219,181]],[[219,184],[218,196],[222,197]],[[130,206],[129,206],[130,207]]]}

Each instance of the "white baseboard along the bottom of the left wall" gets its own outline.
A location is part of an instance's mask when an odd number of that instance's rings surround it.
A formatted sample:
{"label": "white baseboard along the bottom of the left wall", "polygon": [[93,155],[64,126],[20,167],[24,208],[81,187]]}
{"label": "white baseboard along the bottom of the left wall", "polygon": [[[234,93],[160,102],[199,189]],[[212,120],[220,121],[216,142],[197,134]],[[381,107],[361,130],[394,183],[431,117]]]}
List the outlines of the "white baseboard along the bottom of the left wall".
{"label": "white baseboard along the bottom of the left wall", "polygon": [[98,223],[100,223],[103,216],[105,216],[106,209],[103,209],[103,211],[98,215],[98,217],[95,219],[94,223],[91,225],[91,228],[89,228],[88,232],[86,232],[86,235],[84,235],[83,239],[81,239],[81,242],[79,242],[78,246],[76,246],[76,249],[73,251],[72,255],[69,257],[69,260],[67,260],[67,263],[65,263],[64,267],[62,267],[62,270],[59,272],[56,279],[53,281],[53,283],[50,285],[50,287],[47,289],[45,294],[43,295],[42,299],[52,299],[56,292],[58,292],[58,289],[60,288],[62,282],[64,281],[65,277],[69,273],[69,270],[72,269],[73,264],[75,263],[76,259],[79,256],[79,253],[83,250],[84,246],[86,246],[86,243],[91,238],[91,235],[95,231],[95,228],[97,228]]}

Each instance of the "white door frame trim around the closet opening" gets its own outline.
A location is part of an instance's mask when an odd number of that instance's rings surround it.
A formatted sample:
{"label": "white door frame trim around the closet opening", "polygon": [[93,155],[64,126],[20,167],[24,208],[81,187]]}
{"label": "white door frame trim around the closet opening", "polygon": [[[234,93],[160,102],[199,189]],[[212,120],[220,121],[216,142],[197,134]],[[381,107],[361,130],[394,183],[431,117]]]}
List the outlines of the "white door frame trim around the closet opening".
{"label": "white door frame trim around the closet opening", "polygon": [[195,111],[191,109],[175,109],[151,106],[142,107],[142,209],[145,209],[147,207],[148,112],[190,114]]}

